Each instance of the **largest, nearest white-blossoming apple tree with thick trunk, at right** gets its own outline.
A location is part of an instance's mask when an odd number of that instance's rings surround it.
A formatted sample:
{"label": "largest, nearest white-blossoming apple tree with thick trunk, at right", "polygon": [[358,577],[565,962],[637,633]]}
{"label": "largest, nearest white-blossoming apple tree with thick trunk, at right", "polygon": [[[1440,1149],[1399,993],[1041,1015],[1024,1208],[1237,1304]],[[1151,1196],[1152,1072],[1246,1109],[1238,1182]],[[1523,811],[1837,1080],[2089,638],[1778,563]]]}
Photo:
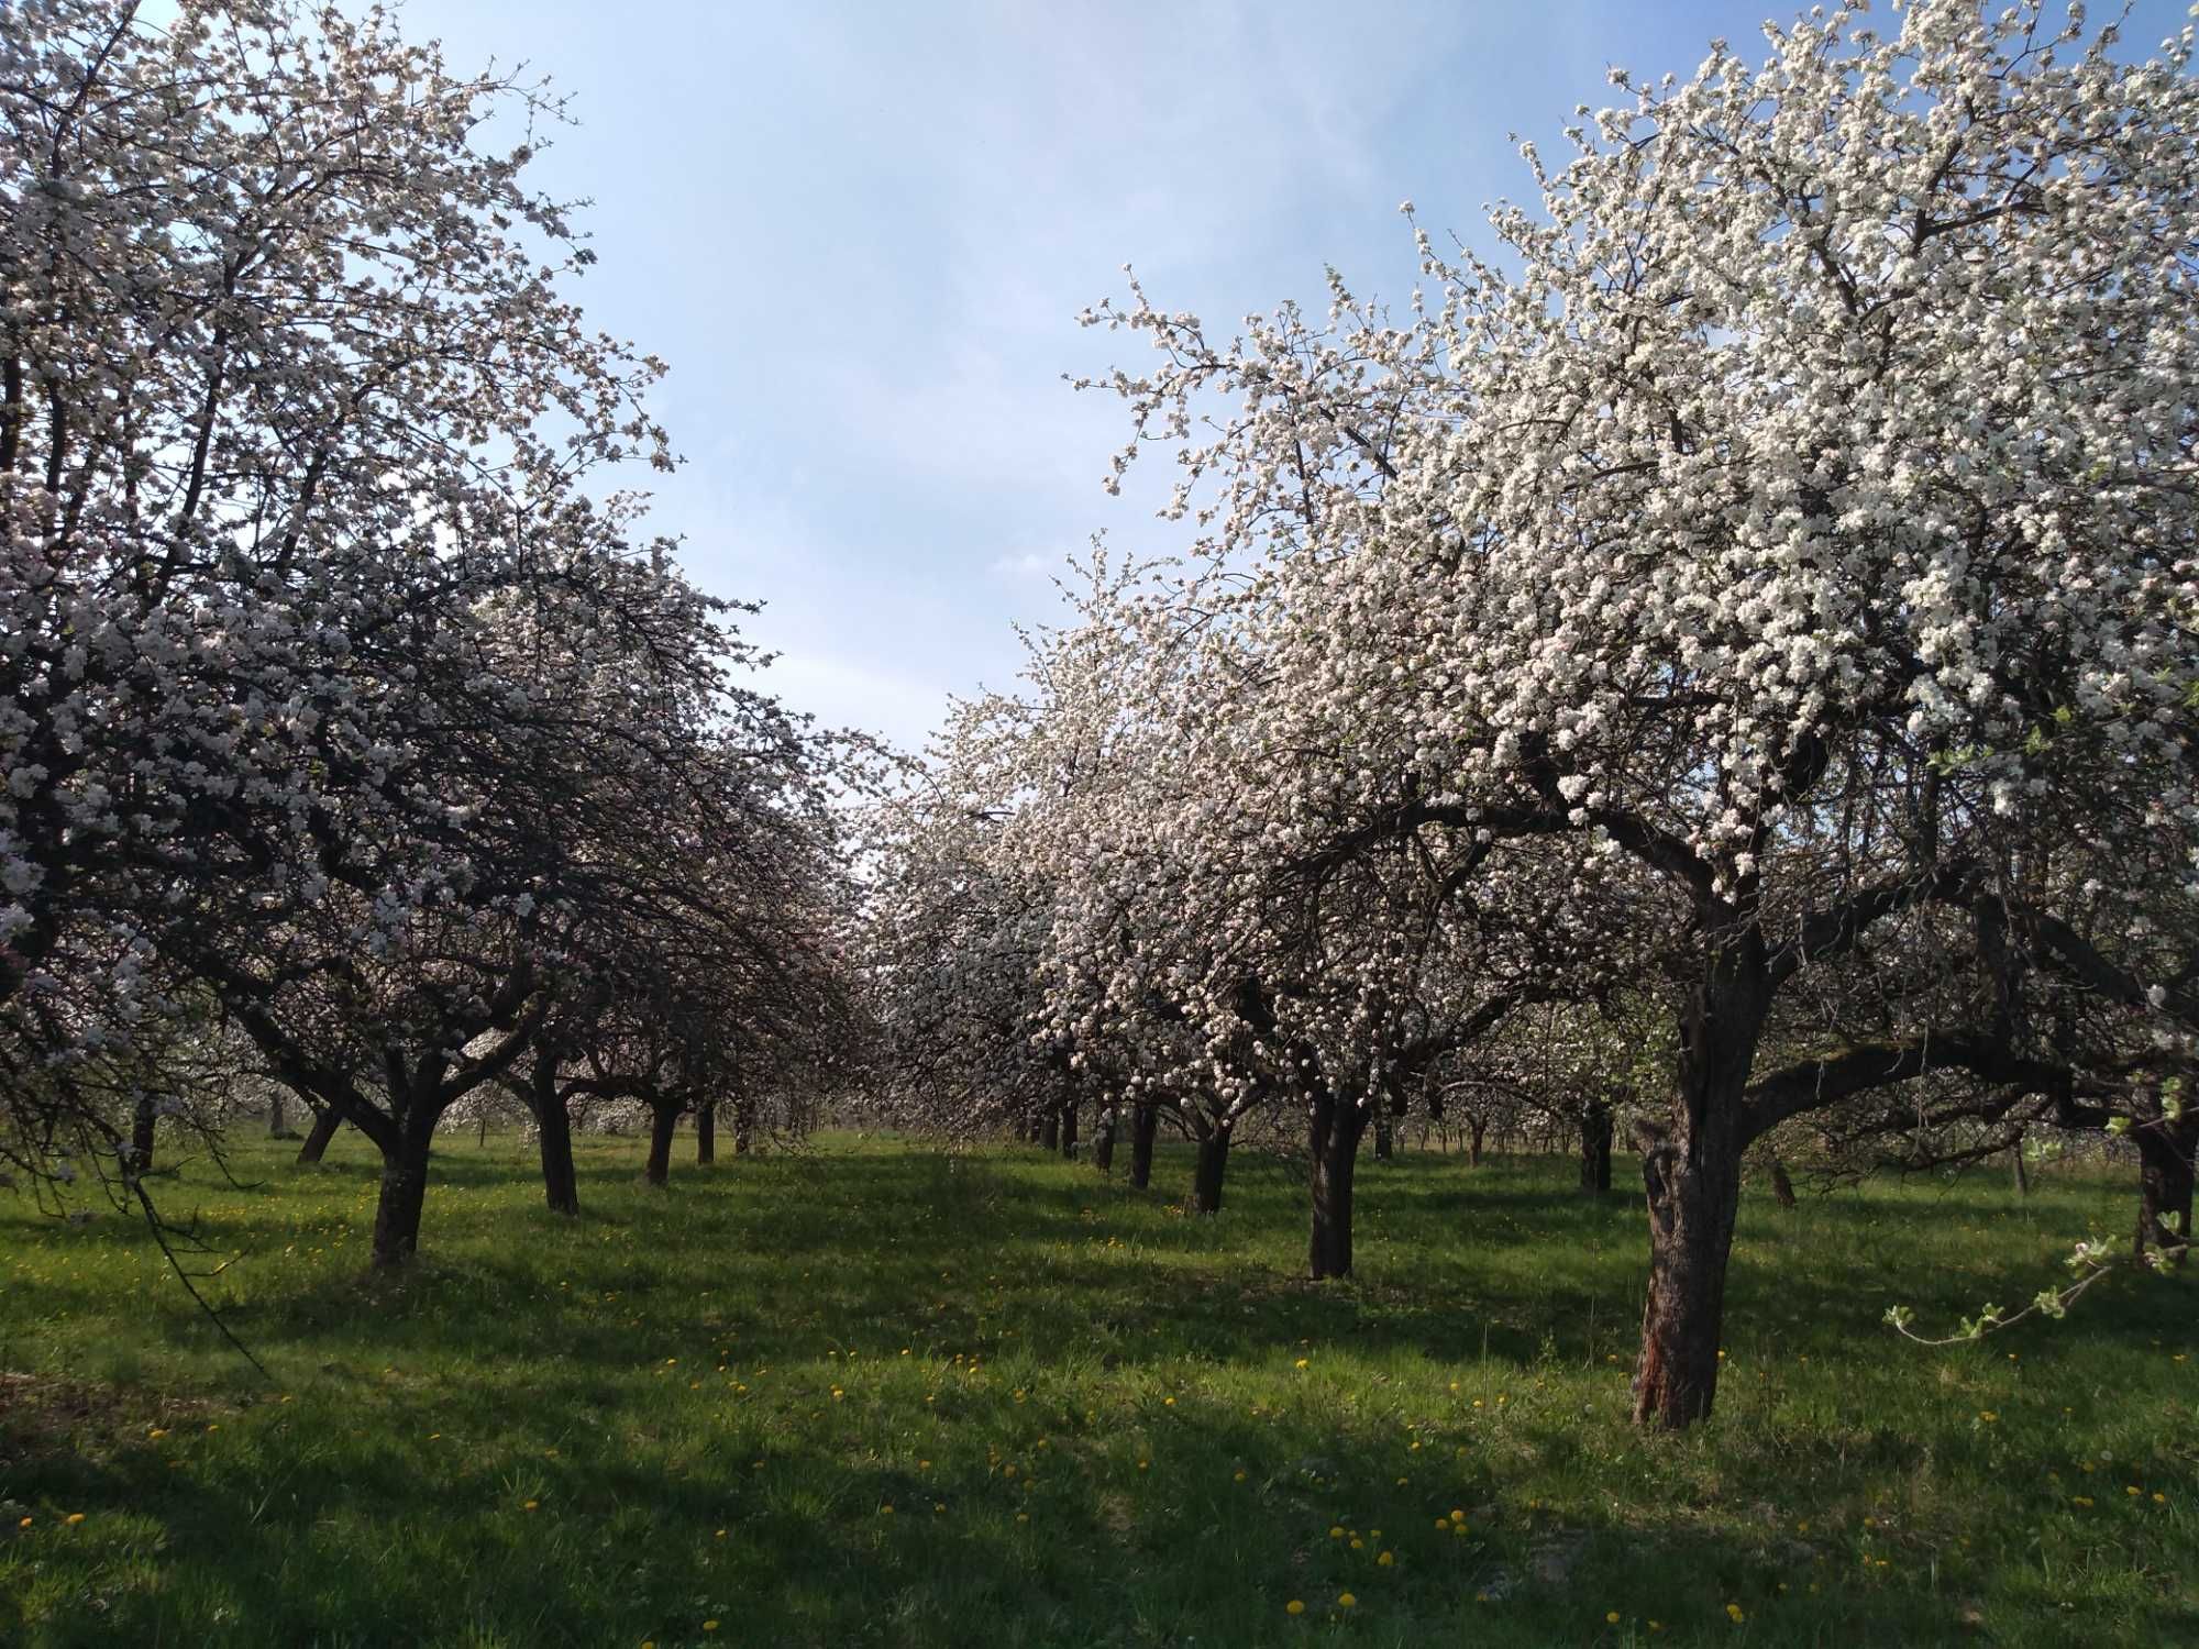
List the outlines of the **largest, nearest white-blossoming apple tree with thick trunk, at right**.
{"label": "largest, nearest white-blossoming apple tree with thick trunk, at right", "polygon": [[[1768,40],[1616,75],[1563,165],[1526,150],[1502,255],[1421,237],[1403,323],[1341,284],[1227,343],[1137,288],[1093,314],[1159,350],[1108,385],[1214,569],[1168,635],[1242,653],[1201,671],[1196,805],[1271,857],[1440,840],[1654,890],[1660,1425],[1711,1412],[1753,1139],[1935,1071],[2054,1080],[1990,992],[1889,1025],[1821,981],[1959,932],[1973,978],[2001,943],[2155,1016],[2159,1058],[2192,1029],[2188,976],[2082,939],[2140,877],[2175,930],[2199,895],[2190,33],[2129,62],[1922,0]],[[2126,851],[2041,873],[2085,829]]]}

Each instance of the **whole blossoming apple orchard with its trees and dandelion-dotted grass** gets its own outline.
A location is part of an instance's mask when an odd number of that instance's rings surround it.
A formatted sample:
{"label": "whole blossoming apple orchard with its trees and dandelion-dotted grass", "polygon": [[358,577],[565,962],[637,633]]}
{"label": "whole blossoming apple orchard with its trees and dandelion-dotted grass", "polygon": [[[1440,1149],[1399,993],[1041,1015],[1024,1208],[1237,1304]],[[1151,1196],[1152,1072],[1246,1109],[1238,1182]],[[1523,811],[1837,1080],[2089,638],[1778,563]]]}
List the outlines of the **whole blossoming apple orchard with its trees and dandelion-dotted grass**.
{"label": "whole blossoming apple orchard with its trees and dandelion-dotted grass", "polygon": [[154,11],[0,11],[0,1636],[2199,1629],[2190,29],[1821,9],[1403,301],[1128,275],[1159,519],[899,750],[651,523],[545,84]]}

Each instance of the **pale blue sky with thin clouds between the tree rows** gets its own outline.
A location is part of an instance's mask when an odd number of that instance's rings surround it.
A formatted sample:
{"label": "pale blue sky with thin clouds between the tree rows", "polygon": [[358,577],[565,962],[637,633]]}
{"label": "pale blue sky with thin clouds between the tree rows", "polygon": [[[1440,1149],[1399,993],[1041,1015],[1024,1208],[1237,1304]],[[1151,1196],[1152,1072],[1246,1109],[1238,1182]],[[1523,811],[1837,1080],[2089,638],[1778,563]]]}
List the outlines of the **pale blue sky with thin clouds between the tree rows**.
{"label": "pale blue sky with thin clouds between the tree rows", "polygon": [[[1067,552],[1176,543],[1100,488],[1119,402],[1062,383],[1139,363],[1073,319],[1121,264],[1216,325],[1319,299],[1324,264],[1403,299],[1399,200],[1487,246],[1482,204],[1531,196],[1509,132],[1555,150],[1610,64],[1757,55],[1790,13],[411,0],[405,29],[574,97],[532,176],[594,200],[589,319],[671,363],[655,521],[706,589],[767,602],[748,629],[792,706],[915,745],[950,693],[1012,684]],[[2126,35],[2179,24],[2140,4]]]}

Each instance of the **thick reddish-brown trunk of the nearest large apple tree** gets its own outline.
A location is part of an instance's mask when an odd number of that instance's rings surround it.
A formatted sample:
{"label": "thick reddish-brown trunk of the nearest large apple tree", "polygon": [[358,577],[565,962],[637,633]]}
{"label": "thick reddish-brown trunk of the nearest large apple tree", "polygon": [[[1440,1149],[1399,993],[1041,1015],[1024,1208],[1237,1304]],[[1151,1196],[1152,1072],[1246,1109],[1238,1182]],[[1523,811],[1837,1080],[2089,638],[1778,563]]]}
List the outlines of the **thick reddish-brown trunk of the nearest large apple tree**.
{"label": "thick reddish-brown trunk of the nearest large apple tree", "polygon": [[1649,1299],[1634,1365],[1634,1420],[1682,1429],[1711,1418],[1726,1260],[1742,1203],[1742,1095],[1770,998],[1761,941],[1722,952],[1680,1022],[1671,1126],[1643,1132]]}

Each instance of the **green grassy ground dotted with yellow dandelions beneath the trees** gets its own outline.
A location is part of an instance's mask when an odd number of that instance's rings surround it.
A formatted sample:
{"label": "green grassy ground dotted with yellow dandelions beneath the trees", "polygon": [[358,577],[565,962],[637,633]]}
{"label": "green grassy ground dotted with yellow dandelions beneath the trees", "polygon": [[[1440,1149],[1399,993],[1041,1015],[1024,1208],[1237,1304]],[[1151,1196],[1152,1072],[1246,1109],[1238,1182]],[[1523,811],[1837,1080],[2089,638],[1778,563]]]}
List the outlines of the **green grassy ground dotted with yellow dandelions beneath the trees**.
{"label": "green grassy ground dotted with yellow dandelions beneath the trees", "polygon": [[1640,1205],[1561,1163],[1368,1163],[1341,1286],[1249,1159],[1216,1220],[1165,1154],[638,1167],[585,1141],[567,1222],[453,1141],[378,1284],[361,1141],[187,1165],[270,1381],[128,1218],[0,1203],[0,1640],[2199,1642],[2195,1282],[1878,1324],[2025,1299],[2126,1185],[1750,1196],[1717,1418],[1649,1438]]}

